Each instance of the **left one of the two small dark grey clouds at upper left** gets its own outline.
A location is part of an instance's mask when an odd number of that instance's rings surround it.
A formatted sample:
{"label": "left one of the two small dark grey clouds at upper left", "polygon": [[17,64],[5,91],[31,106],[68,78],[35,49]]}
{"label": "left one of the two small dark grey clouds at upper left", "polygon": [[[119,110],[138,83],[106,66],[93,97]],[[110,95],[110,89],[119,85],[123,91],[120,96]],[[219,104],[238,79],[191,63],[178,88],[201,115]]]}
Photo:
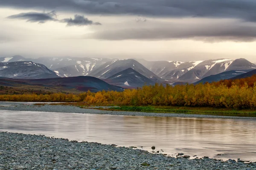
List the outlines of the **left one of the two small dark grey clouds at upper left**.
{"label": "left one of the two small dark grey clouds at upper left", "polygon": [[32,22],[32,23],[45,23],[46,21],[57,21],[56,13],[55,11],[45,13],[45,12],[27,12],[27,13],[20,13],[20,14],[15,14],[11,15],[7,18],[9,19],[22,19],[22,20],[27,20],[27,22]]}

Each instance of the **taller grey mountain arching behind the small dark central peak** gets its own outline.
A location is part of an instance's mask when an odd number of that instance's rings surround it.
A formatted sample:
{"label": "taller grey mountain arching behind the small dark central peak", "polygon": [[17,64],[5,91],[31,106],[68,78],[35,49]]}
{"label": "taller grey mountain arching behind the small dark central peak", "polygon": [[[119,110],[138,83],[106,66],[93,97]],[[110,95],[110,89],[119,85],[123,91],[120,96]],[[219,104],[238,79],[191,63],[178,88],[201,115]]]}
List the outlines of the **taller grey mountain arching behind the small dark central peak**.
{"label": "taller grey mountain arching behind the small dark central peak", "polygon": [[157,75],[149,71],[147,68],[145,68],[142,64],[134,59],[119,59],[117,61],[106,62],[100,68],[92,71],[89,75],[100,79],[106,79],[128,68],[134,69],[148,79],[151,79],[151,81],[162,81],[162,79],[160,79]]}

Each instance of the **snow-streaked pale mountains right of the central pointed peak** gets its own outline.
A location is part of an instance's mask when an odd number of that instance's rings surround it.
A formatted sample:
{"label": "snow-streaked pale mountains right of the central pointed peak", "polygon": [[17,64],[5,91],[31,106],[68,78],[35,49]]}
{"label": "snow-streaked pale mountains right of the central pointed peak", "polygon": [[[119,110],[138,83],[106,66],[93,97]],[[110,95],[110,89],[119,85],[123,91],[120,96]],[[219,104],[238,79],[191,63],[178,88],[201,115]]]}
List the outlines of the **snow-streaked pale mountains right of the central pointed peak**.
{"label": "snow-streaked pale mountains right of the central pointed peak", "polygon": [[[143,61],[142,61],[143,62]],[[211,59],[205,61],[144,61],[144,65],[157,76],[177,81],[196,81],[204,77],[219,74],[224,71],[232,70],[250,70],[256,68],[256,65],[246,59]]]}

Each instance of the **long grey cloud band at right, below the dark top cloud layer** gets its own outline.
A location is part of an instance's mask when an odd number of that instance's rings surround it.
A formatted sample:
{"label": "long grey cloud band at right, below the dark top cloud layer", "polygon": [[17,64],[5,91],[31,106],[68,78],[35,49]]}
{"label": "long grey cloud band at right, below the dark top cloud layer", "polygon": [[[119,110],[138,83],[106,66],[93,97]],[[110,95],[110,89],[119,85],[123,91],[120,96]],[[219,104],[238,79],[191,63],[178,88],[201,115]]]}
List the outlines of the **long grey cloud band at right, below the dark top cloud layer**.
{"label": "long grey cloud band at right, below the dark top cloud layer", "polygon": [[152,28],[122,28],[102,30],[85,35],[83,38],[100,40],[170,40],[192,39],[206,42],[214,41],[253,41],[256,40],[255,25],[240,23],[201,23],[201,24],[170,24]]}

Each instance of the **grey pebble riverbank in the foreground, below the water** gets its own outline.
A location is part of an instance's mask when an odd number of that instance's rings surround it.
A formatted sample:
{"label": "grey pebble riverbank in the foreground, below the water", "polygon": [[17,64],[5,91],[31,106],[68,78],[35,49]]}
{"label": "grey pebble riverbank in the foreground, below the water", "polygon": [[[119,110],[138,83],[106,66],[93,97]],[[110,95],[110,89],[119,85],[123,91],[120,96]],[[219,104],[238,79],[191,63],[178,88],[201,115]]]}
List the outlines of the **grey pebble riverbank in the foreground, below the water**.
{"label": "grey pebble riverbank in the foreground, below the water", "polygon": [[0,170],[256,170],[256,163],[185,159],[145,150],[0,132]]}

